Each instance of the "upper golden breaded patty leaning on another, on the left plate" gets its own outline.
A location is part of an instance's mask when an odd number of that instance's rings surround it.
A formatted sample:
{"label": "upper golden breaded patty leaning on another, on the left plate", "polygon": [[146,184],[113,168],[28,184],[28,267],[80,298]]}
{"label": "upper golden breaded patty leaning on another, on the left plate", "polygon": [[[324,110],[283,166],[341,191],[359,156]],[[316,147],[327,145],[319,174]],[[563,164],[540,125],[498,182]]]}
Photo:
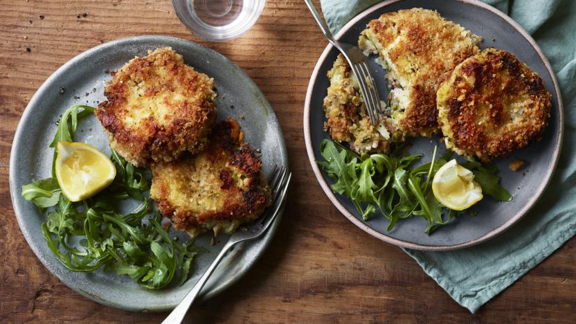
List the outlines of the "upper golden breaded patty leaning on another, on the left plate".
{"label": "upper golden breaded patty leaning on another, on the left plate", "polygon": [[96,116],[110,145],[138,166],[198,152],[216,118],[214,80],[172,48],[135,57],[114,73]]}

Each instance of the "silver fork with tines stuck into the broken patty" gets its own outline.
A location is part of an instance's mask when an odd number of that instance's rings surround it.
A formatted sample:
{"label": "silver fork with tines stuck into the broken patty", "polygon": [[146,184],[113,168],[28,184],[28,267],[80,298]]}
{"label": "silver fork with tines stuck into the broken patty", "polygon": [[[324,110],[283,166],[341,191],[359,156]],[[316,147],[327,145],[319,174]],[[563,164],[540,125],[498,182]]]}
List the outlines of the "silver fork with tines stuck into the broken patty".
{"label": "silver fork with tines stuck into the broken patty", "polygon": [[368,60],[366,60],[366,56],[362,54],[357,46],[338,42],[336,39],[334,39],[332,32],[330,32],[330,28],[328,28],[326,23],[320,17],[318,10],[314,8],[312,0],[304,0],[304,2],[312,12],[312,16],[314,16],[314,19],[316,19],[318,26],[320,26],[320,29],[322,30],[322,33],[324,33],[324,36],[328,39],[328,42],[334,45],[334,47],[338,48],[346,61],[348,61],[348,65],[350,65],[350,69],[352,69],[352,73],[354,73],[354,76],[358,81],[360,93],[364,99],[364,103],[366,103],[366,112],[368,113],[368,117],[370,117],[370,123],[372,123],[372,126],[378,125],[379,111],[381,110],[380,96],[376,89],[376,82],[372,76],[372,71],[370,71],[370,66],[368,66]]}

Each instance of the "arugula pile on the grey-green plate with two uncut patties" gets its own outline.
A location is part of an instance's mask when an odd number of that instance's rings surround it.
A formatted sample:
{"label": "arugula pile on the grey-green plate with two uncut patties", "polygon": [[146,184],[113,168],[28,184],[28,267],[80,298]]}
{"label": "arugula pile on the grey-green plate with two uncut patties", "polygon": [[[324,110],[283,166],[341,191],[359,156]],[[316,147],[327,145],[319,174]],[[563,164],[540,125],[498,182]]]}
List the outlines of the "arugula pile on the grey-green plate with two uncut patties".
{"label": "arugula pile on the grey-green plate with two uncut patties", "polygon": [[[80,111],[80,109],[82,109]],[[50,147],[73,141],[78,120],[91,116],[94,108],[75,105],[60,119]],[[56,150],[55,150],[56,151]],[[24,199],[33,202],[46,220],[42,235],[56,258],[71,271],[95,271],[102,267],[127,275],[141,287],[161,289],[188,279],[192,260],[206,251],[193,240],[179,244],[161,224],[161,215],[152,211],[150,175],[111,150],[116,177],[110,186],[93,197],[73,202],[62,194],[55,176],[22,186]],[[139,206],[132,213],[120,213],[118,201],[132,199]]]}

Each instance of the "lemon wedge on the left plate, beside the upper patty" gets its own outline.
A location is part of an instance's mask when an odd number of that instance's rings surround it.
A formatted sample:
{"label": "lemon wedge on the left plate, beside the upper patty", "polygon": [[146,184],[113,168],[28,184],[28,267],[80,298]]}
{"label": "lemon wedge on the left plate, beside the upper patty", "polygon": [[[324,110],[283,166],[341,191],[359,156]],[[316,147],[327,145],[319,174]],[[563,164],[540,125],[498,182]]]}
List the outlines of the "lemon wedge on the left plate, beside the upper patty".
{"label": "lemon wedge on the left plate, beside the upper patty", "polygon": [[114,163],[92,145],[60,142],[56,150],[56,179],[70,201],[96,195],[116,177]]}

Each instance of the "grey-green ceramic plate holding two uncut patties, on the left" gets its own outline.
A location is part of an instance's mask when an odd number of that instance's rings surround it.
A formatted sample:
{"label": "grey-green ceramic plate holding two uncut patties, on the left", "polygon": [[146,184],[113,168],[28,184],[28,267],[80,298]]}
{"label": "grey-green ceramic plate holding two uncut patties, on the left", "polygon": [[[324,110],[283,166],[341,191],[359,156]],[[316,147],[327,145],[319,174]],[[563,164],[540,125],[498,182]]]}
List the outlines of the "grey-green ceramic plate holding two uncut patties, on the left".
{"label": "grey-green ceramic plate holding two uncut patties, on the left", "polygon": [[[39,260],[68,287],[98,303],[134,311],[161,311],[175,307],[208,268],[228,237],[219,236],[219,243],[210,247],[210,234],[201,235],[197,244],[207,247],[210,252],[195,259],[190,280],[182,287],[148,291],[135,285],[126,276],[103,273],[101,270],[95,273],[75,273],[64,268],[48,250],[42,238],[40,224],[44,217],[20,193],[24,183],[50,176],[52,150],[48,148],[48,143],[55,134],[55,122],[60,114],[78,103],[97,105],[105,99],[105,80],[111,78],[105,71],[118,69],[135,55],[146,55],[147,50],[159,46],[172,46],[183,55],[187,64],[215,79],[218,118],[233,116],[240,122],[246,132],[246,141],[262,150],[264,174],[268,174],[273,165],[288,166],[280,125],[260,89],[226,57],[199,44],[161,36],[119,39],[74,57],[51,75],[30,100],[12,143],[10,192],[16,217],[24,237]],[[59,93],[61,88],[65,89],[64,94]],[[240,118],[241,115],[244,115],[244,119]],[[86,118],[79,127],[76,141],[91,143],[109,153],[107,136],[96,117]],[[240,246],[240,249],[228,255],[204,287],[203,298],[215,296],[240,279],[270,244],[279,222],[280,217],[262,239]],[[173,234],[186,239],[182,233]]]}

